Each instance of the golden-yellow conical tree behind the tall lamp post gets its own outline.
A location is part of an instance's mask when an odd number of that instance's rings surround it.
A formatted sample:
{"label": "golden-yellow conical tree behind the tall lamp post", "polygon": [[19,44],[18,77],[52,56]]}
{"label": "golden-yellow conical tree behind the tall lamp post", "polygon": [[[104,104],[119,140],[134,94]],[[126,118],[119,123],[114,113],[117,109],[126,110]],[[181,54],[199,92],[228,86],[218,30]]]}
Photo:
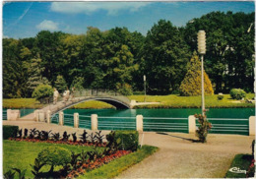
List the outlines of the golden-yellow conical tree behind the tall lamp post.
{"label": "golden-yellow conical tree behind the tall lamp post", "polygon": [[[186,76],[184,80],[181,82],[180,85],[180,95],[186,95],[186,96],[191,96],[191,95],[200,95],[202,93],[201,89],[201,63],[199,61],[198,56],[194,52],[189,66],[188,66],[188,71],[186,73]],[[212,95],[214,94],[214,89],[212,87],[211,81],[204,71],[204,89],[205,93]]]}

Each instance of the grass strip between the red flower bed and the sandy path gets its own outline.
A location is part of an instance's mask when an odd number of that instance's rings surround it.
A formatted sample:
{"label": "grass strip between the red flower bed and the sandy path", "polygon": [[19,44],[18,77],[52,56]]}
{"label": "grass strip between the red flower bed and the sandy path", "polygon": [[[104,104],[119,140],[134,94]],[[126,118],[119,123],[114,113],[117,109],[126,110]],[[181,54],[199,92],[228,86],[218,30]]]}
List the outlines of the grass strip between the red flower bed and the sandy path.
{"label": "grass strip between the red flower bed and the sandy path", "polygon": [[141,162],[146,157],[152,155],[159,148],[153,146],[143,146],[141,149],[138,149],[135,152],[124,155],[120,158],[117,158],[107,164],[104,164],[94,170],[91,170],[84,175],[80,175],[78,178],[113,178],[118,176],[120,173],[128,169],[129,167]]}

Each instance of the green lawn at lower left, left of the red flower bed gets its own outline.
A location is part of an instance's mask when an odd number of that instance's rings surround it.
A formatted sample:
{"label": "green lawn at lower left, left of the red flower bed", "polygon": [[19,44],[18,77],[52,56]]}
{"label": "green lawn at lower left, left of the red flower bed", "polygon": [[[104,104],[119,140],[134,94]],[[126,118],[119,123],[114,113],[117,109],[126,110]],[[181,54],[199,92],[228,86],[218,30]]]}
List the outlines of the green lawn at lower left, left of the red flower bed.
{"label": "green lawn at lower left, left of the red flower bed", "polygon": [[[70,145],[56,145],[48,143],[31,143],[31,142],[15,142],[15,141],[3,141],[3,172],[6,173],[11,168],[27,169],[26,178],[33,178],[32,167],[34,158],[37,156],[38,152],[46,149],[50,146],[58,146],[64,149],[73,150],[76,153],[81,152],[82,149],[85,151],[92,150],[91,147],[80,147],[80,146],[70,146]],[[43,166],[41,171],[48,171],[49,166]],[[55,170],[60,169],[55,167]],[[16,174],[17,175],[17,174]],[[18,177],[18,175],[17,175]]]}

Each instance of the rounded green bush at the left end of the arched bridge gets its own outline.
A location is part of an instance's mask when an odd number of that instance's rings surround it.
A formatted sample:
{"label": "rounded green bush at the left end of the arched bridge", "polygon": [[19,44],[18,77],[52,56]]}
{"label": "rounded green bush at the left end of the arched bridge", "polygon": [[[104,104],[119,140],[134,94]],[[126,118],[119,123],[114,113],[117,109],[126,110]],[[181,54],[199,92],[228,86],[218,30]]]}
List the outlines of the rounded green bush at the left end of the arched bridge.
{"label": "rounded green bush at the left end of the arched bridge", "polygon": [[39,85],[32,92],[32,97],[36,100],[41,100],[43,98],[49,98],[53,95],[53,89],[48,85]]}

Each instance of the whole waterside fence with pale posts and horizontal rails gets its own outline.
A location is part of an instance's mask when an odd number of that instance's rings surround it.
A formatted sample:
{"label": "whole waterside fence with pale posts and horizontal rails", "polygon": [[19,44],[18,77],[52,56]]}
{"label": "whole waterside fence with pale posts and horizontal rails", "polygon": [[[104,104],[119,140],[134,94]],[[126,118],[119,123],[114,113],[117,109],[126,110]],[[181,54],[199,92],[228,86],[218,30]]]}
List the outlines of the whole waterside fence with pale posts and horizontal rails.
{"label": "whole waterside fence with pale posts and horizontal rails", "polygon": [[[62,114],[61,114],[62,113]],[[61,117],[61,115],[63,117]],[[76,117],[77,116],[77,117]],[[58,118],[58,119],[57,119]],[[212,123],[212,134],[255,135],[255,116],[249,119],[209,118]],[[79,116],[78,113],[54,114],[51,122],[60,125],[74,126],[92,130],[137,130],[148,132],[195,133],[199,127],[194,116],[188,118],[157,118],[143,117],[103,117]]]}

